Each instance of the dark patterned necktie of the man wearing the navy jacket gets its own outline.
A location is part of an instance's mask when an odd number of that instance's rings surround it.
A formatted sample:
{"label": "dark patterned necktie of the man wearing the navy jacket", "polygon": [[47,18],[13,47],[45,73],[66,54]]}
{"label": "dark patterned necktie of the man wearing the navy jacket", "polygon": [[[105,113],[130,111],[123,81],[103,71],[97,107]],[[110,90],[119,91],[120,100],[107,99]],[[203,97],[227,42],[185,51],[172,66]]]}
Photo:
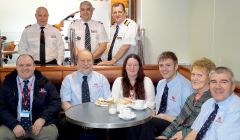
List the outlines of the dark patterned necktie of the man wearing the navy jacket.
{"label": "dark patterned necktie of the man wearing the navy jacket", "polygon": [[[30,95],[28,95],[28,93],[30,92],[28,91],[29,80],[24,80],[23,82],[24,82],[23,86],[24,97],[22,97],[22,112],[28,111],[30,113]],[[20,124],[24,129],[28,129],[31,126],[30,116],[21,117]]]}

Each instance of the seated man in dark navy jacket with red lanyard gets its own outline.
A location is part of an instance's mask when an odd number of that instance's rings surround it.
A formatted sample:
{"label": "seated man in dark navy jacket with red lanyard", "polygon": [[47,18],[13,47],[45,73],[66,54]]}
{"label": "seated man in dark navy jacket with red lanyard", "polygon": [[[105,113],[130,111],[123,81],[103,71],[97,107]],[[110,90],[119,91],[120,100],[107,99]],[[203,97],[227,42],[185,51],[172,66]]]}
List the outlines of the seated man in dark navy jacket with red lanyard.
{"label": "seated man in dark navy jacket with red lanyard", "polygon": [[35,70],[32,56],[20,55],[0,93],[0,139],[55,140],[60,109],[55,86]]}

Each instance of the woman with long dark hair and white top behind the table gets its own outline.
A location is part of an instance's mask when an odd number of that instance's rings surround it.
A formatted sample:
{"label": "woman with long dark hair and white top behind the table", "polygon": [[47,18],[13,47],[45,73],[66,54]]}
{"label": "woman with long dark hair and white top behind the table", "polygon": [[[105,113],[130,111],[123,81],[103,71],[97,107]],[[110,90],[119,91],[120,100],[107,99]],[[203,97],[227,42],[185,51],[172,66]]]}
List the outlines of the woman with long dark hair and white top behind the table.
{"label": "woman with long dark hair and white top behind the table", "polygon": [[122,77],[118,77],[112,87],[114,100],[130,98],[145,100],[146,106],[154,108],[155,89],[152,80],[145,76],[138,55],[129,54],[123,62]]}

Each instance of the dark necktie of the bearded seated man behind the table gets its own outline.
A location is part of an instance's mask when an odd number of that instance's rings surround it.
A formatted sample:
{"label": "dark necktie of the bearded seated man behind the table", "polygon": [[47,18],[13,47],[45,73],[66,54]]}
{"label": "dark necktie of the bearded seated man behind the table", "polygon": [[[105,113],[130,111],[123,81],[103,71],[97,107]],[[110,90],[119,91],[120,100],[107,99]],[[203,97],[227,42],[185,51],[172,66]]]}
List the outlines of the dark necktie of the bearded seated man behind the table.
{"label": "dark necktie of the bearded seated man behind the table", "polygon": [[90,102],[89,86],[87,76],[83,76],[82,82],[82,103]]}

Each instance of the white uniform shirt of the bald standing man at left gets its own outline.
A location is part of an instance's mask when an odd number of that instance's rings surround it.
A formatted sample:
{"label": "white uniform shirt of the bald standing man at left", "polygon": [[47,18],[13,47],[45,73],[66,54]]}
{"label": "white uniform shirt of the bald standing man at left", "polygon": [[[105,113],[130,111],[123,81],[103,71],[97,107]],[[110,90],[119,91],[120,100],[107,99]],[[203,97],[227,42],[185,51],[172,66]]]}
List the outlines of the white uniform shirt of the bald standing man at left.
{"label": "white uniform shirt of the bald standing man at left", "polygon": [[[29,25],[22,33],[19,42],[19,53],[30,54],[34,60],[40,61],[40,33],[41,28],[38,24]],[[44,28],[46,62],[57,60],[61,65],[64,59],[64,43],[60,31],[47,24]]]}

